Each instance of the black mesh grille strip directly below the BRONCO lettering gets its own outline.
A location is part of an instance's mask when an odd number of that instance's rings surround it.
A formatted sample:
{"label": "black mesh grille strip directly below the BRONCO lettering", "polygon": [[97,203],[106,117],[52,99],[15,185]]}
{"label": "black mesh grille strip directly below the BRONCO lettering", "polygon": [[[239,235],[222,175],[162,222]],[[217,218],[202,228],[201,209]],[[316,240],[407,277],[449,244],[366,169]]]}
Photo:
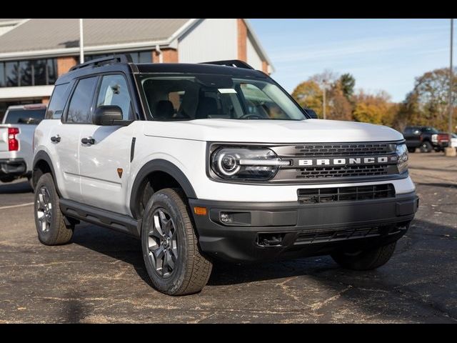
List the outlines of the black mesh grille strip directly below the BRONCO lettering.
{"label": "black mesh grille strip directly below the BRONCO lettering", "polygon": [[387,175],[388,165],[366,166],[311,166],[297,169],[297,179],[324,179],[326,177],[373,177]]}

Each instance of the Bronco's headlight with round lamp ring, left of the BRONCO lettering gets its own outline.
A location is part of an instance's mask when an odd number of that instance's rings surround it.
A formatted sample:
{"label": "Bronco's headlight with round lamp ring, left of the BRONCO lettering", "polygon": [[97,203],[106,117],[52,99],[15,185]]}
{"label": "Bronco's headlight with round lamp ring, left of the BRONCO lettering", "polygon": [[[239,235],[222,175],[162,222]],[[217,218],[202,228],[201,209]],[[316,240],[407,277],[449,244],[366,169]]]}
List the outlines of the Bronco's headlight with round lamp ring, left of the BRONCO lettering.
{"label": "Bronco's headlight with round lamp ring, left of the BRONCO lettering", "polygon": [[274,151],[265,148],[221,147],[211,155],[211,169],[223,179],[268,180],[279,166],[288,166]]}

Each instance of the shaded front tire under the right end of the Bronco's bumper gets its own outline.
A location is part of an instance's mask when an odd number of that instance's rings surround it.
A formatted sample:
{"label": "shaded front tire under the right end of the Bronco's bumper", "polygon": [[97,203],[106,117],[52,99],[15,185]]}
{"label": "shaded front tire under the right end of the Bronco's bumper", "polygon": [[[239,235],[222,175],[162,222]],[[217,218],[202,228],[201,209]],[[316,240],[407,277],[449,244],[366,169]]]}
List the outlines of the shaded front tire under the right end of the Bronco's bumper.
{"label": "shaded front tire under the right end of the Bronco's bumper", "polygon": [[337,252],[331,255],[332,259],[341,267],[353,270],[371,270],[383,266],[391,259],[395,251],[396,242],[363,250],[361,252]]}

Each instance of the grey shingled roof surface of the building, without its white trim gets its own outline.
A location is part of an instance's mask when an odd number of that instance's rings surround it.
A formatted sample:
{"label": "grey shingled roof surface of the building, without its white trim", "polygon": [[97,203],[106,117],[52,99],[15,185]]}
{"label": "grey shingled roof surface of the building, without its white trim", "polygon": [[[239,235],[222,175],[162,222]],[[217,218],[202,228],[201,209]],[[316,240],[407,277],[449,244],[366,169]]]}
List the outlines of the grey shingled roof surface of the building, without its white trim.
{"label": "grey shingled roof surface of the building, without its white trim", "polygon": [[[84,46],[89,48],[164,41],[189,20],[84,19]],[[32,32],[34,39],[30,39]],[[68,49],[78,46],[79,19],[31,19],[0,36],[0,54]]]}

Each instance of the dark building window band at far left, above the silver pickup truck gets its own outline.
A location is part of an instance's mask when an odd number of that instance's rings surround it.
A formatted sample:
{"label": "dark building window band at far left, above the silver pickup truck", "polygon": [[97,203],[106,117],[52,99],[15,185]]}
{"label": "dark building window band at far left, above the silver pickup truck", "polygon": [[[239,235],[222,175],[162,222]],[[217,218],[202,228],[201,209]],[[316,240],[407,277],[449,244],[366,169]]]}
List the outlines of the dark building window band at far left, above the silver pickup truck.
{"label": "dark building window band at far left, above the silver pickup truck", "polygon": [[45,86],[54,84],[56,59],[0,61],[0,87]]}

